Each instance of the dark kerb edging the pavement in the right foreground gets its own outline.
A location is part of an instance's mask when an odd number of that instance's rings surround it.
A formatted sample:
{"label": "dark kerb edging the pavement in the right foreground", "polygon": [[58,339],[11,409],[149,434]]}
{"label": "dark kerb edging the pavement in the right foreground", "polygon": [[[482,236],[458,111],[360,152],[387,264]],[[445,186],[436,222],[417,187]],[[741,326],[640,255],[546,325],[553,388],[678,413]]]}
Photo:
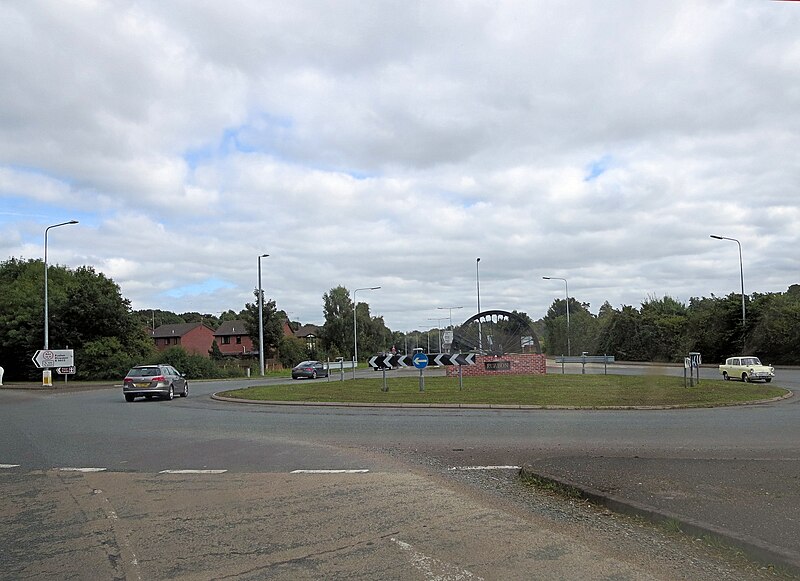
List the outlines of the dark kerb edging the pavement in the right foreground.
{"label": "dark kerb edging the pavement in the right foreground", "polygon": [[554,485],[564,493],[569,493],[595,505],[603,506],[613,512],[636,516],[654,524],[676,522],[679,524],[680,531],[684,534],[692,535],[696,538],[713,538],[725,546],[741,550],[750,559],[763,565],[784,567],[790,570],[792,574],[800,575],[800,556],[771,547],[759,539],[669,511],[659,510],[634,500],[606,494],[587,486],[537,472],[530,466],[523,466],[519,471],[519,476],[521,479],[535,479],[544,484]]}

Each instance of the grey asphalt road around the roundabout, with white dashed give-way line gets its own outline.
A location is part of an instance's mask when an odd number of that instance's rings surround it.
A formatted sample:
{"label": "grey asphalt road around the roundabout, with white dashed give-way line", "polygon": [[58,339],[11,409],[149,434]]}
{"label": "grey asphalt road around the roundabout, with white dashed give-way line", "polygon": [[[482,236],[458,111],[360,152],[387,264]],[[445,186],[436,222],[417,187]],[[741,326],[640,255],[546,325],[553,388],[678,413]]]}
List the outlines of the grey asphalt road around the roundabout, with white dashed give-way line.
{"label": "grey asphalt road around the roundabout, with white dashed give-way line", "polygon": [[[380,381],[378,373],[362,373]],[[797,371],[782,371],[780,378],[779,385],[800,385]],[[684,511],[687,520],[735,531],[789,558],[800,555],[797,398],[718,409],[515,412],[264,406],[209,397],[247,383],[262,381],[193,382],[187,399],[133,404],[117,389],[0,392],[2,514],[13,525],[0,536],[0,546],[17,567],[7,578],[59,578],[59,563],[81,549],[97,559],[97,567],[112,563],[113,575],[126,578],[248,578],[251,569],[260,572],[252,578],[263,578],[259,574],[267,570],[274,578],[478,578],[481,571],[483,578],[537,578],[539,571],[538,578],[548,578],[547,572],[581,578],[585,575],[577,572],[588,570],[619,578],[685,574],[668,563],[648,563],[652,557],[637,558],[630,547],[619,553],[619,539],[606,546],[575,530],[569,531],[570,550],[562,547],[549,568],[541,569],[531,547],[552,549],[546,534],[535,534],[549,531],[552,538],[550,521],[510,518],[469,492],[454,493],[458,482],[439,480],[454,468],[487,466],[531,467],[667,513]],[[219,473],[164,472],[176,470]],[[351,473],[304,473],[307,479],[298,480],[292,474],[298,470]],[[507,482],[514,473],[500,469],[492,478]],[[248,504],[259,518],[247,518],[242,507]],[[66,505],[72,511],[64,512]],[[364,517],[364,510],[372,516]],[[77,521],[76,511],[83,515]],[[199,516],[209,511],[216,516]],[[431,514],[437,515],[435,527]],[[477,539],[466,524],[476,515],[486,519],[481,530],[492,531]],[[132,524],[142,520],[149,523],[144,528]],[[98,550],[87,541],[87,527],[95,527],[100,547],[112,548]],[[310,542],[308,534],[297,534],[298,527],[318,531],[321,539]],[[157,539],[147,535],[149,528]],[[41,564],[37,569],[19,539],[48,553],[45,539],[52,540],[53,530],[62,531],[60,550],[35,561]],[[224,539],[220,531],[228,531]],[[267,537],[269,547],[258,540]],[[216,560],[203,558],[215,542],[228,552],[224,557],[222,549],[214,552]],[[170,556],[170,549],[193,555],[192,564]],[[243,557],[232,560],[231,550]],[[509,551],[517,551],[516,557],[508,557]],[[276,561],[277,554],[285,559]],[[325,554],[337,554],[347,565],[338,571]],[[436,562],[438,569],[428,575],[420,562],[430,567]],[[712,569],[707,577],[694,571],[689,578],[715,577],[724,575]]]}

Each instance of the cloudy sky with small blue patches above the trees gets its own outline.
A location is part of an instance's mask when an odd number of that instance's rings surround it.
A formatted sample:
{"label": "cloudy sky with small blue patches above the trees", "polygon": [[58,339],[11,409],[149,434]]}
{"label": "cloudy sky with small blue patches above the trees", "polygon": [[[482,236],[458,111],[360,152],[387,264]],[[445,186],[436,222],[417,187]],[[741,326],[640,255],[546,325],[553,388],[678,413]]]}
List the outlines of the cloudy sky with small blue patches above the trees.
{"label": "cloudy sky with small blue patches above the trees", "polygon": [[0,29],[0,259],[78,220],[48,262],[134,309],[238,312],[265,253],[302,323],[339,285],[399,331],[478,293],[738,294],[712,234],[747,294],[800,283],[800,2],[8,0]]}

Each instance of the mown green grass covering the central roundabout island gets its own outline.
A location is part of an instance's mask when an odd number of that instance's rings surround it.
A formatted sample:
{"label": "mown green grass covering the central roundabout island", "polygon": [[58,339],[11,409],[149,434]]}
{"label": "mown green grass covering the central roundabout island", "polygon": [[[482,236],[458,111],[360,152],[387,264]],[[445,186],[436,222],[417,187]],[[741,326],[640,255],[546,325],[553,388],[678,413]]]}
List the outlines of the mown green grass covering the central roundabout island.
{"label": "mown green grass covering the central roundabout island", "polygon": [[702,381],[684,387],[683,378],[627,375],[505,375],[458,379],[419,377],[387,378],[383,381],[298,381],[289,385],[261,386],[223,392],[227,397],[294,402],[484,404],[568,407],[688,406],[735,404],[781,396],[785,389],[760,383]]}

